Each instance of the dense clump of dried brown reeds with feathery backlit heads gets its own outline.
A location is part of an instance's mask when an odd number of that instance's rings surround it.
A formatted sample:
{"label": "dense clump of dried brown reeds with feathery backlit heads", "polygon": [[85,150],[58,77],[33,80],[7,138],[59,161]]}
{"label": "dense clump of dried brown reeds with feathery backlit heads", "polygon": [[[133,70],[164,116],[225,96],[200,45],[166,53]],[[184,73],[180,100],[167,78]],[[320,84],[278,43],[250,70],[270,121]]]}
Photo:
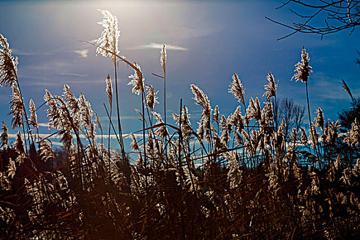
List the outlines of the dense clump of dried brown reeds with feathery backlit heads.
{"label": "dense clump of dried brown reeds with feathery backlit heads", "polygon": [[[2,239],[336,239],[359,235],[360,161],[352,159],[347,165],[343,161],[347,153],[337,151],[339,141],[359,144],[357,120],[345,140],[339,135],[339,122],[326,121],[321,108],[314,122],[309,114],[309,138],[301,116],[289,120],[297,124],[292,130],[285,118],[277,125],[273,105],[278,102],[278,85],[269,72],[265,102],[250,97],[248,106],[239,76],[232,75],[228,91],[241,105],[227,117],[220,115],[218,106],[211,108],[199,86],[191,85],[195,104],[202,108],[197,130],[182,101],[171,125],[166,105],[164,120],[155,112],[158,91],[144,83],[139,64],[119,56],[116,17],[106,10],[101,13],[104,32],[95,47],[112,60],[115,69],[115,93],[110,75],[105,81],[108,146],[84,95],[75,97],[66,84],[62,96],[46,90],[49,128],[56,129],[67,153],[62,165],[54,164],[60,155],[51,141],[36,134],[34,101],[30,101],[27,118],[16,77],[17,60],[0,35],[0,80],[13,88],[12,127],[24,123],[26,127],[23,134],[18,132],[14,145],[8,144],[5,123],[0,136]],[[163,45],[160,77],[164,81],[166,57]],[[123,143],[127,136],[121,128],[117,94],[117,65],[121,63],[134,70],[129,84],[133,93],[141,95],[141,138],[130,134],[132,151],[139,156],[136,165],[130,163]],[[294,77],[307,84],[311,67],[304,48],[296,71]],[[112,121],[114,105],[117,123]],[[97,131],[101,132],[99,143]],[[110,149],[111,133],[119,154]]]}

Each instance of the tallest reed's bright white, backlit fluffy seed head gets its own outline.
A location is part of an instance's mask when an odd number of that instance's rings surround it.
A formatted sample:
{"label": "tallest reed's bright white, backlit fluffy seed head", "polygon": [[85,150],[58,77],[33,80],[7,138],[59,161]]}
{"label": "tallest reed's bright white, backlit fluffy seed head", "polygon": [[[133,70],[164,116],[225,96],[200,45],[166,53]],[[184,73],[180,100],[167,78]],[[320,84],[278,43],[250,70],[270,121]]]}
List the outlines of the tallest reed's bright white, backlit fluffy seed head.
{"label": "tallest reed's bright white, backlit fluffy seed head", "polygon": [[[118,45],[120,37],[117,17],[113,16],[108,10],[99,10],[99,12],[104,16],[104,19],[98,22],[98,24],[104,27],[104,30],[100,38],[97,39],[99,47],[96,49],[96,55],[101,54],[104,57],[115,59],[116,57],[112,53],[119,53]],[[103,48],[112,53],[105,51]]]}

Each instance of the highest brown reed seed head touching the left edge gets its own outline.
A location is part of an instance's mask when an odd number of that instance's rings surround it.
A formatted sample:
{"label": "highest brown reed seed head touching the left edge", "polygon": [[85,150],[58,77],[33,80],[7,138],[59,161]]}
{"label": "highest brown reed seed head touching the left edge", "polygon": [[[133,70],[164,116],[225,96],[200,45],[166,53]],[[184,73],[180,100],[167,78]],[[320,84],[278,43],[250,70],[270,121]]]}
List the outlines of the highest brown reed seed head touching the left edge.
{"label": "highest brown reed seed head touching the left edge", "polygon": [[11,86],[17,81],[16,72],[18,58],[14,58],[9,49],[8,40],[0,34],[0,86]]}

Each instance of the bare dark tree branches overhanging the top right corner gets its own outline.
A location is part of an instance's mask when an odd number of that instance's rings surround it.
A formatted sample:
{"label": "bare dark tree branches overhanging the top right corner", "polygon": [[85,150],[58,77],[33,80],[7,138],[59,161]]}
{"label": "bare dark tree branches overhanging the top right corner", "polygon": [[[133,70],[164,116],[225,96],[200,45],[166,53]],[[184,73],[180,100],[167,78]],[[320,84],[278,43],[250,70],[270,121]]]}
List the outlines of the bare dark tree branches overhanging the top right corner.
{"label": "bare dark tree branches overhanging the top right corner", "polygon": [[[290,11],[299,17],[291,25],[269,19],[290,29],[291,34],[278,38],[277,40],[287,38],[297,32],[319,34],[321,38],[326,34],[332,34],[344,29],[350,29],[350,34],[355,27],[360,25],[360,1],[352,0],[288,0],[283,5],[276,8],[288,6]],[[315,19],[324,19],[322,25],[315,25]]]}

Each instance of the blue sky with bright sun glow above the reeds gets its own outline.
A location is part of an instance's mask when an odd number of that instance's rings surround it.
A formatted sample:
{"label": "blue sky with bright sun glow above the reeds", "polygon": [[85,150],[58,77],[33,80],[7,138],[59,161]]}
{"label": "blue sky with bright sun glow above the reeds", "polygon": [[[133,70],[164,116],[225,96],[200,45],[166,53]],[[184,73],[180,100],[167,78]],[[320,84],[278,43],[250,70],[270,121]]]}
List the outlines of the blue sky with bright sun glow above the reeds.
{"label": "blue sky with bright sun glow above the reeds", "polygon": [[[106,126],[103,102],[105,78],[113,75],[110,59],[95,56],[95,48],[79,40],[99,38],[102,28],[98,8],[110,10],[119,20],[119,49],[123,56],[140,64],[145,82],[159,90],[163,101],[163,82],[151,73],[160,73],[160,49],[166,43],[167,109],[178,112],[180,98],[190,108],[193,124],[200,115],[190,84],[197,84],[208,95],[213,108],[228,115],[237,101],[228,93],[233,73],[241,77],[245,99],[261,97],[266,75],[272,71],[278,84],[278,97],[306,104],[304,84],[290,81],[304,45],[313,73],[309,79],[311,112],[321,107],[327,118],[348,108],[350,99],[341,88],[344,79],[352,94],[359,97],[360,67],[355,64],[360,49],[359,29],[324,36],[290,33],[265,16],[284,23],[296,21],[288,8],[276,10],[282,1],[0,1],[0,33],[8,38],[13,55],[19,57],[19,81],[28,103],[43,104],[45,88],[62,94],[69,84],[78,96],[83,93]],[[315,19],[314,23],[320,23]],[[127,86],[132,70],[119,69],[120,109],[124,132],[141,129],[134,108],[141,108],[139,96]],[[0,89],[1,121],[10,126],[7,115],[10,88]],[[45,108],[43,108],[45,110]],[[38,121],[45,123],[45,113]],[[156,112],[163,113],[160,104]],[[315,116],[313,116],[315,117]],[[194,126],[195,127],[195,126]],[[10,130],[11,133],[17,130]],[[40,132],[47,134],[46,127]]]}

